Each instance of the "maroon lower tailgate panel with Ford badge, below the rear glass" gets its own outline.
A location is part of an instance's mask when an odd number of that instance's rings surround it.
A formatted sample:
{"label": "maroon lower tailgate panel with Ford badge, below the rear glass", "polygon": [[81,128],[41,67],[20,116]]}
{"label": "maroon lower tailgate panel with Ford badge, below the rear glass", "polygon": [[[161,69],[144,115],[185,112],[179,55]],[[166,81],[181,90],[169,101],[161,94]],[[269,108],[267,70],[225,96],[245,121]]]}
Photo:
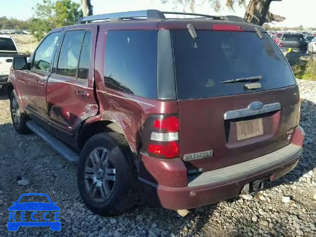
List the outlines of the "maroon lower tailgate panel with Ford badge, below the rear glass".
{"label": "maroon lower tailgate panel with Ford badge, below the rear glass", "polygon": [[[271,108],[266,112],[248,109],[256,101],[271,105]],[[257,158],[288,145],[288,131],[298,122],[298,87],[183,100],[178,106],[180,157],[212,151],[212,157],[187,163],[189,169],[207,171]],[[236,113],[236,110],[239,111]]]}

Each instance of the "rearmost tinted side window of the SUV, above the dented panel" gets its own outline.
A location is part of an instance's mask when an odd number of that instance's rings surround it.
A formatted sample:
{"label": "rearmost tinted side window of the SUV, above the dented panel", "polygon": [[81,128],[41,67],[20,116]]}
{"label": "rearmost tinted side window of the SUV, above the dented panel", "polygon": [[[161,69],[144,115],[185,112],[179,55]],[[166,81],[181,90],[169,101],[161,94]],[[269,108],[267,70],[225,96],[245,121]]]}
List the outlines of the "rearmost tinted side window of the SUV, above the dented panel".
{"label": "rearmost tinted side window of the SUV, above the dented panel", "polygon": [[106,87],[157,98],[157,31],[109,31],[104,60]]}

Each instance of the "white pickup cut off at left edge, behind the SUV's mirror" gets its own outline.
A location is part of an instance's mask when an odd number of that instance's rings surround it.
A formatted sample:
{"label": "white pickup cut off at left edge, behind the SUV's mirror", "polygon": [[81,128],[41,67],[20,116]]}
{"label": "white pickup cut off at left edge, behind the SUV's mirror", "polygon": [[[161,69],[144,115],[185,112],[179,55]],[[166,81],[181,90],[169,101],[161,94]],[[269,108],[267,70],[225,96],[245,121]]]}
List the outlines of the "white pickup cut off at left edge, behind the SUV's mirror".
{"label": "white pickup cut off at left edge, behind the SUV's mirror", "polygon": [[13,38],[0,35],[0,89],[6,85],[13,57],[18,54],[18,51]]}

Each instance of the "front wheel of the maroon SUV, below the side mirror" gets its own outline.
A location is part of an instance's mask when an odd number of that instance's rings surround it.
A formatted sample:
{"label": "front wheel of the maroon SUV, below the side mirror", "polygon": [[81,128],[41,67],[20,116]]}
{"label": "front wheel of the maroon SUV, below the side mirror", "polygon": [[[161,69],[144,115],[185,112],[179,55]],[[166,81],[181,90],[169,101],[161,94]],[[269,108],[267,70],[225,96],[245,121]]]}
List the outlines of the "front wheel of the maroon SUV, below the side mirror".
{"label": "front wheel of the maroon SUV, below the side mirror", "polygon": [[30,134],[31,130],[26,126],[27,116],[20,109],[15,90],[10,95],[10,113],[14,129],[20,134]]}

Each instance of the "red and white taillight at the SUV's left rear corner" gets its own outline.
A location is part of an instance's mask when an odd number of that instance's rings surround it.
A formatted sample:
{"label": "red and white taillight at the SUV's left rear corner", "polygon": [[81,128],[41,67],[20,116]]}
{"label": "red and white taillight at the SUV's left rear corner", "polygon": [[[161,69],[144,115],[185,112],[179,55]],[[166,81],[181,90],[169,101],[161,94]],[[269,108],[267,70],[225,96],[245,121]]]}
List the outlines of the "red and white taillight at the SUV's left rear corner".
{"label": "red and white taillight at the SUV's left rear corner", "polygon": [[155,158],[176,158],[179,149],[180,122],[177,115],[151,115],[142,131],[142,152]]}

